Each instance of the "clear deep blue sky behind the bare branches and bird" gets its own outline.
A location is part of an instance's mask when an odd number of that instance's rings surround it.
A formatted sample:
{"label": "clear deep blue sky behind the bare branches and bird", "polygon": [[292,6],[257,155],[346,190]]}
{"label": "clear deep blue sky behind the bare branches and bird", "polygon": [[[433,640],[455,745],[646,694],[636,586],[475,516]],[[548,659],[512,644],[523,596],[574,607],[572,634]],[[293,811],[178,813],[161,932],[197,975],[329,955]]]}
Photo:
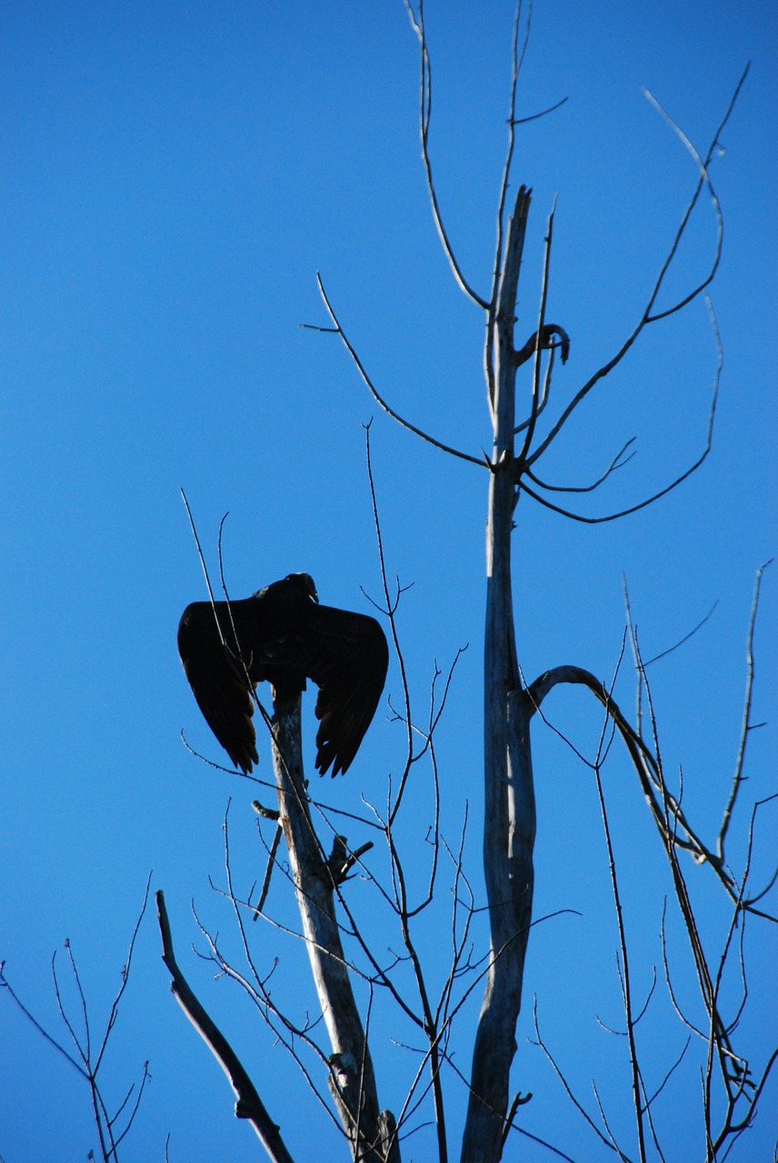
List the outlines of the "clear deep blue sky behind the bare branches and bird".
{"label": "clear deep blue sky behind the bare branches and bird", "polygon": [[[512,20],[505,0],[428,0],[430,149],[452,244],[481,294],[506,147]],[[681,488],[613,525],[572,523],[524,498],[514,558],[529,679],[563,662],[613,673],[624,622],[622,573],[649,657],[718,601],[705,628],[651,671],[668,768],[683,768],[685,805],[711,840],[737,748],[754,576],[778,544],[776,22],[773,7],[756,0],[536,0],[519,88],[520,115],[568,98],[521,130],[514,167],[514,188],[519,181],[534,188],[520,334],[536,319],[542,237],[558,193],[548,317],[572,342],[555,380],[563,404],[640,316],[697,179],[641,86],[704,151],[752,62],[712,167],[725,216],[713,288],[725,349],[713,452]],[[205,597],[179,488],[214,577],[219,522],[229,511],[223,558],[234,597],[305,570],[324,602],[369,612],[361,587],[378,598],[379,572],[363,424],[374,418],[387,566],[412,585],[400,630],[420,719],[434,661],[445,669],[470,644],[440,729],[438,761],[442,829],[456,847],[467,802],[465,851],[481,902],[487,476],[400,430],[369,398],[336,340],[299,327],[327,323],[319,270],[392,405],[472,455],[488,448],[483,319],[450,277],[420,163],[416,41],[400,0],[12,0],[0,15],[0,959],[41,1021],[66,1036],[50,958],[59,947],[64,968],[62,944],[70,939],[99,1025],[152,871],[192,984],[245,1056],[292,1154],[312,1158],[316,1142],[323,1144],[316,1157],[337,1157],[338,1140],[295,1068],[236,987],[215,983],[212,966],[191,951],[192,942],[204,948],[190,912],[194,899],[237,957],[229,908],[208,884],[212,877],[223,886],[230,798],[242,891],[262,877],[265,856],[250,808],[256,787],[198,762],[179,737],[184,729],[194,748],[224,758],[176,651],[181,609]],[[705,201],[671,291],[705,271],[714,238]],[[580,511],[607,513],[662,487],[701,450],[715,359],[701,302],[658,324],[568,426],[545,476],[586,484],[636,436],[635,458]],[[759,721],[775,707],[773,569],[756,641]],[[387,693],[399,694],[394,664]],[[628,666],[618,697],[631,711]],[[555,694],[547,712],[593,752],[601,720],[583,693]],[[305,713],[313,770],[312,701]],[[387,776],[404,759],[402,730],[388,718],[383,708],[344,779],[314,784],[327,802],[358,812],[361,794],[383,801]],[[607,863],[591,773],[542,725],[535,748],[536,915],[577,913],[533,935],[514,1084],[535,1094],[522,1125],[587,1161],[604,1157],[602,1149],[527,1039],[536,994],[543,1033],[571,1082],[590,1110],[591,1079],[602,1085],[630,1144],[622,1040],[598,1025],[622,1021]],[[776,791],[775,725],[755,733],[749,748],[754,800]],[[264,778],[266,751],[260,761]],[[428,773],[419,779],[405,839],[422,854],[423,877]],[[644,1026],[658,1085],[685,1039],[662,986],[657,934],[669,882],[634,775],[615,748],[606,784],[630,892],[640,996],[659,966],[655,1025]],[[757,876],[776,850],[775,822],[775,808],[766,808]],[[358,833],[358,825],[349,829],[351,843],[362,841]],[[741,857],[734,847],[733,858]],[[688,876],[718,908],[709,871],[690,862]],[[272,905],[291,922],[283,890],[279,878]],[[369,886],[355,880],[350,891],[355,907],[370,914]],[[431,955],[449,940],[447,892],[427,934]],[[299,1014],[311,1005],[299,944],[259,926],[252,937],[265,970],[281,955],[277,989]],[[712,947],[720,937],[712,925]],[[758,1066],[775,1043],[764,983],[777,950],[771,929],[752,929],[751,937],[742,1037]],[[392,947],[397,934],[377,929],[374,940]],[[681,966],[680,944],[673,955]],[[476,1013],[473,1000],[457,1043],[465,1072]],[[377,1044],[411,1039],[394,1022],[388,1009],[377,1014]],[[5,1163],[85,1158],[97,1146],[86,1086],[7,997],[0,997],[0,1046]],[[381,1100],[398,1110],[416,1058],[397,1046],[373,1053]],[[123,1096],[145,1059],[152,1080],[122,1158],[162,1160],[167,1134],[174,1163],[257,1157],[252,1133],[231,1116],[227,1082],[169,993],[151,908],[112,1037],[108,1094]],[[447,1087],[454,1144],[466,1096],[452,1072]],[[669,1084],[662,1108],[669,1158],[699,1157],[697,1087],[691,1065]],[[757,1130],[734,1157],[769,1156],[776,1093],[773,1082]],[[420,1129],[404,1157],[430,1157],[429,1135]],[[516,1137],[506,1160],[519,1157],[552,1156]]]}

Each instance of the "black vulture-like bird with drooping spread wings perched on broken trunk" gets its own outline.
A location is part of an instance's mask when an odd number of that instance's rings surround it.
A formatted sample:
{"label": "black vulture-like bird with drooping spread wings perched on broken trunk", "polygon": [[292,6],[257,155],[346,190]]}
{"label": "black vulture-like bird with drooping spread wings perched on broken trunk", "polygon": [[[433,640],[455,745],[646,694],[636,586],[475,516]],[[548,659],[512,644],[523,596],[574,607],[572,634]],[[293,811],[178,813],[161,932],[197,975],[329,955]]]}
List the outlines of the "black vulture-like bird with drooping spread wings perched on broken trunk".
{"label": "black vulture-like bird with drooping spread wings perched on broken trunk", "polygon": [[290,573],[242,601],[194,601],[181,614],[178,652],[206,722],[244,772],[257,763],[251,722],[257,683],[273,701],[319,687],[316,768],[345,771],[384,690],[388,648],[374,618],[320,606],[313,578]]}

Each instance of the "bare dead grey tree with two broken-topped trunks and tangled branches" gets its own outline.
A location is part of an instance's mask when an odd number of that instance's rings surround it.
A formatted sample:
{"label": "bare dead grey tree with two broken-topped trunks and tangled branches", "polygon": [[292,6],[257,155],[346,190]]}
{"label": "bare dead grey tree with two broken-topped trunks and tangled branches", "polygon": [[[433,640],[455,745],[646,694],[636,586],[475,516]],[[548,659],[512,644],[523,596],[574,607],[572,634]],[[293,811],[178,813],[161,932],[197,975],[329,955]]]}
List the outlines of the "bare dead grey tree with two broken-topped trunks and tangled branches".
{"label": "bare dead grey tree with two broken-topped trunks and tangled branches", "polygon": [[[678,863],[678,852],[687,851],[701,864],[705,864],[721,885],[721,891],[733,909],[733,932],[740,921],[748,915],[759,914],[757,907],[763,893],[750,893],[748,870],[740,880],[733,878],[723,856],[723,843],[727,834],[731,807],[742,783],[742,762],[733,787],[731,799],[725,809],[722,830],[718,843],[706,844],[701,835],[686,818],[681,807],[680,795],[673,793],[665,777],[659,750],[656,745],[656,722],[650,718],[651,734],[648,741],[641,733],[640,722],[631,726],[627,716],[613,699],[612,688],[579,666],[566,665],[547,671],[533,682],[527,682],[519,665],[516,635],[514,628],[514,607],[512,587],[512,551],[515,529],[516,504],[526,494],[527,500],[534,500],[545,508],[570,520],[597,522],[626,518],[640,508],[657,501],[661,497],[680,485],[705,461],[711,449],[713,420],[715,414],[719,371],[721,359],[714,376],[714,391],[711,404],[707,437],[697,459],[674,479],[647,497],[640,504],[631,505],[619,512],[601,516],[585,516],[572,507],[558,502],[559,493],[593,491],[602,484],[616,469],[627,461],[624,445],[612,459],[601,476],[585,490],[564,490],[551,484],[541,476],[541,462],[555,443],[568,420],[577,409],[584,406],[590,394],[624,358],[627,352],[640,340],[643,333],[654,323],[681,312],[688,304],[706,295],[719,266],[721,255],[722,219],[719,200],[714,192],[709,163],[714,155],[716,142],[731,113],[733,106],[745,79],[745,74],[735,91],[729,108],[716,127],[709,148],[698,152],[670,117],[654,101],[668,123],[676,131],[687,149],[695,167],[697,184],[690,198],[686,212],[678,226],[676,237],[659,265],[659,270],[650,293],[643,305],[640,317],[630,333],[623,338],[612,357],[598,368],[564,404],[550,424],[545,423],[542,431],[541,416],[550,411],[552,376],[555,361],[565,362],[569,355],[570,340],[559,323],[547,319],[547,300],[551,271],[551,243],[554,229],[554,212],[548,220],[545,233],[545,252],[542,276],[540,279],[538,306],[536,316],[524,322],[518,314],[518,290],[522,264],[524,238],[529,223],[531,195],[526,186],[520,186],[512,202],[508,201],[509,179],[512,174],[516,115],[516,81],[521,67],[523,48],[520,44],[521,6],[514,29],[513,41],[513,81],[509,100],[508,147],[502,181],[499,191],[497,214],[497,245],[493,264],[493,277],[488,292],[480,294],[465,277],[451,242],[449,240],[443,215],[440,208],[435,187],[433,165],[428,148],[429,123],[431,109],[430,62],[423,23],[421,3],[413,9],[408,2],[412,26],[420,44],[420,122],[422,158],[427,173],[427,185],[430,195],[434,220],[448,256],[454,277],[461,290],[483,313],[486,324],[486,343],[484,351],[484,369],[486,379],[486,397],[492,428],[492,445],[488,455],[477,455],[443,443],[437,437],[423,431],[408,419],[400,416],[377,390],[371,376],[359,358],[357,348],[347,336],[336,311],[320,280],[323,302],[329,314],[330,326],[316,328],[335,333],[350,354],[356,368],[362,374],[377,402],[399,423],[428,441],[441,451],[455,456],[488,473],[487,501],[487,537],[486,537],[486,627],[484,645],[484,873],[486,884],[486,901],[490,925],[490,948],[481,959],[471,959],[467,952],[470,921],[474,908],[467,909],[461,905],[461,891],[469,890],[466,872],[461,854],[450,854],[454,868],[455,892],[455,942],[449,975],[437,997],[429,986],[428,973],[417,954],[414,940],[414,925],[429,906],[442,855],[437,828],[434,854],[430,858],[430,882],[428,891],[420,893],[420,900],[413,902],[412,891],[406,883],[402,854],[395,837],[398,813],[404,801],[406,779],[413,763],[421,755],[429,757],[433,764],[435,805],[437,805],[437,777],[434,754],[434,732],[440,719],[440,712],[445,701],[433,699],[434,709],[423,728],[415,722],[409,707],[408,687],[404,678],[405,707],[398,712],[408,735],[408,757],[399,786],[390,791],[387,808],[384,813],[374,811],[371,823],[384,839],[390,854],[390,883],[384,885],[365,865],[362,857],[367,846],[357,851],[348,847],[331,826],[326,813],[315,805],[308,794],[302,773],[299,734],[299,702],[274,707],[272,722],[267,726],[273,740],[273,763],[278,790],[278,826],[276,839],[269,850],[267,875],[274,869],[288,877],[301,916],[302,932],[299,934],[305,942],[311,969],[317,991],[323,1025],[328,1035],[328,1047],[317,1041],[317,1033],[307,1022],[300,1023],[281,1012],[277,1006],[265,979],[254,964],[250,940],[245,919],[251,912],[262,913],[265,890],[259,900],[252,901],[250,894],[242,897],[235,890],[229,859],[229,847],[226,851],[227,889],[235,920],[241,934],[243,954],[248,971],[238,970],[222,952],[217,940],[205,927],[202,933],[208,942],[209,956],[220,971],[231,976],[245,989],[255,1000],[263,1016],[271,1026],[276,1037],[298,1058],[306,1080],[327,1106],[327,1096],[319,1087],[312,1073],[301,1062],[298,1047],[305,1044],[319,1058],[327,1079],[329,1093],[334,1100],[340,1118],[343,1135],[355,1160],[369,1160],[371,1163],[387,1161],[399,1163],[400,1140],[404,1127],[412,1112],[430,1094],[437,1132],[437,1151],[441,1163],[449,1158],[449,1143],[445,1126],[445,1104],[443,1096],[443,1068],[452,1065],[448,1053],[451,1028],[464,1000],[474,990],[483,990],[483,1003],[474,1039],[474,1049],[470,1077],[465,1079],[469,1090],[467,1115],[461,1148],[462,1163],[497,1163],[501,1157],[508,1133],[514,1126],[514,1116],[522,1103],[521,1096],[511,1099],[509,1080],[516,1042],[515,1029],[523,996],[523,966],[527,943],[533,923],[533,847],[535,839],[535,795],[530,733],[533,725],[543,718],[542,705],[548,693],[559,685],[583,685],[588,690],[604,709],[604,743],[594,771],[599,780],[599,770],[605,751],[608,733],[616,732],[626,744],[634,765],[640,786],[648,802],[649,811],[658,830],[662,844],[672,870],[678,906],[684,918],[686,933],[691,943],[692,956],[697,966],[700,990],[705,999],[708,1015],[707,1043],[709,1047],[709,1069],[706,1073],[705,1125],[706,1158],[714,1160],[722,1144],[731,1141],[748,1126],[756,1110],[756,1101],[762,1093],[776,1055],[769,1058],[758,1078],[750,1077],[748,1065],[738,1057],[733,1046],[733,1034],[736,1022],[726,1019],[718,999],[716,972],[702,950],[697,932],[693,907],[685,889],[684,872]],[[527,27],[528,31],[528,27]],[[524,41],[526,48],[526,41]],[[658,297],[664,287],[665,277],[676,259],[678,248],[686,231],[690,217],[700,200],[707,195],[713,207],[718,226],[718,238],[711,256],[709,269],[704,279],[688,288],[670,306],[659,307]],[[524,295],[524,299],[527,297]],[[713,319],[713,334],[718,344],[718,331]],[[520,380],[521,377],[521,380]],[[523,384],[520,391],[520,383]],[[372,484],[372,478],[371,478]],[[385,586],[385,614],[390,620],[398,658],[402,668],[401,647],[394,622],[394,612],[399,592],[390,594],[386,583],[386,570],[381,568]],[[637,668],[641,691],[648,693],[645,669],[640,657],[638,644],[633,635],[635,664]],[[449,676],[450,677],[450,676]],[[437,675],[436,675],[437,678]],[[750,695],[747,700],[750,713]],[[421,745],[413,745],[414,732],[417,733]],[[745,740],[745,735],[744,735]],[[607,829],[607,811],[601,794],[604,823],[608,852],[612,855]],[[314,808],[317,815],[314,815]],[[434,808],[436,820],[437,806]],[[364,821],[369,823],[369,821]],[[321,827],[331,828],[331,855],[327,856],[330,843],[320,837]],[[288,869],[285,871],[277,856],[278,842],[283,834],[288,851]],[[228,841],[227,841],[228,844]],[[363,875],[374,886],[383,905],[390,909],[398,923],[401,935],[404,959],[409,966],[413,982],[411,996],[398,982],[395,964],[386,964],[381,956],[370,947],[364,936],[358,919],[354,915],[348,896],[344,892],[344,880],[350,869],[358,866]],[[614,902],[620,916],[620,898],[618,877],[613,877]],[[766,891],[766,890],[765,890]],[[458,912],[457,912],[458,909]],[[769,913],[762,916],[775,920]],[[167,930],[169,932],[169,930]],[[645,1093],[645,1084],[640,1069],[640,1055],[635,1046],[635,1009],[629,985],[629,961],[627,943],[621,934],[621,972],[622,994],[627,1028],[630,1037],[631,1090],[635,1107],[637,1155],[647,1157],[647,1141],[654,1135],[651,1123],[652,1098]],[[348,948],[347,948],[348,941]],[[728,946],[729,949],[729,946]],[[167,956],[167,954],[166,954]],[[728,956],[728,952],[725,952]],[[357,964],[359,962],[359,964]],[[723,964],[723,961],[720,963]],[[376,990],[381,990],[390,997],[398,1011],[411,1021],[423,1035],[426,1050],[421,1064],[408,1087],[408,1097],[402,1110],[391,1114],[381,1111],[378,1100],[376,1076],[369,1048],[369,1014],[363,1020],[352,989],[354,979],[358,979],[367,989],[372,999]],[[465,983],[464,985],[461,983]],[[458,992],[457,992],[458,991]],[[177,990],[179,1000],[181,991]],[[192,1013],[190,1012],[192,1016]],[[193,1019],[195,1020],[195,1019]],[[202,1022],[199,1022],[202,1029]],[[205,1033],[205,1032],[204,1032]],[[205,1036],[214,1046],[213,1039]],[[538,1033],[538,1041],[540,1041]],[[215,1050],[215,1053],[220,1053]],[[716,1129],[712,1115],[709,1091],[714,1077],[714,1063],[718,1061],[723,1085],[727,1090],[727,1110],[722,1126]],[[223,1062],[223,1058],[222,1058]],[[452,1066],[454,1068],[454,1066]],[[238,1093],[236,1113],[252,1116],[249,1111],[256,1111],[254,1098],[247,1094],[243,1083],[228,1066],[230,1079]],[[454,1068],[456,1069],[456,1068]],[[461,1073],[461,1072],[459,1072]],[[461,1073],[462,1077],[462,1073]],[[422,1082],[422,1079],[426,1079]],[[258,1127],[265,1147],[272,1158],[286,1160],[286,1148],[272,1137],[274,1128],[270,1115],[267,1123]],[[262,1120],[260,1120],[262,1122]],[[255,1123],[256,1125],[256,1123]],[[274,1130],[273,1130],[274,1128]],[[273,1146],[276,1143],[276,1146]],[[609,1143],[614,1150],[618,1148]],[[559,1153],[557,1153],[559,1154]],[[621,1154],[621,1153],[620,1153]],[[621,1157],[624,1157],[623,1154]]]}

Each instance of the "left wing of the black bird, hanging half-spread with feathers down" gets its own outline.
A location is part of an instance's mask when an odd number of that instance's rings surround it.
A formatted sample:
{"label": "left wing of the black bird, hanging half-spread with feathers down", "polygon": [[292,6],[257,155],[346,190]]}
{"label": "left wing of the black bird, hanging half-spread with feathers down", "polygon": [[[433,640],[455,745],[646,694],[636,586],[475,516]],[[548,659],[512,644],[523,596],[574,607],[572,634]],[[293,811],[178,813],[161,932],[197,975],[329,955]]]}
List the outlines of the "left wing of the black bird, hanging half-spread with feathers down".
{"label": "left wing of the black bird, hanging half-spread with feathers down", "polygon": [[[222,614],[227,618],[222,632],[229,641],[227,604],[215,605],[220,619]],[[222,642],[210,602],[195,601],[184,611],[178,627],[178,652],[206,722],[233,763],[251,771],[257,763],[251,684]]]}

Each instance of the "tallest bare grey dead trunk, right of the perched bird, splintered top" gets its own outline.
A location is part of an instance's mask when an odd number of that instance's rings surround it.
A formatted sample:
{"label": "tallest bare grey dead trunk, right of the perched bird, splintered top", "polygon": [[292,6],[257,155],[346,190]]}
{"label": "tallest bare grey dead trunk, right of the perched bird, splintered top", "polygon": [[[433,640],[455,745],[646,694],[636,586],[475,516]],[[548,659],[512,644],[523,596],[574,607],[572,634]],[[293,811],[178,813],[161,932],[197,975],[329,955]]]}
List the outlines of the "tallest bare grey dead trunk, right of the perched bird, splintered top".
{"label": "tallest bare grey dead trunk, right of the perched bird, splintered top", "polygon": [[[490,309],[486,366],[493,369],[494,444],[486,526],[486,635],[484,645],[484,871],[491,922],[490,969],[473,1050],[463,1163],[500,1158],[511,1064],[533,907],[535,794],[529,749],[531,709],[516,661],[511,586],[511,533],[516,498],[513,342],[519,270],[529,213],[519,191],[508,222],[494,306]],[[487,374],[487,378],[488,374]]]}

